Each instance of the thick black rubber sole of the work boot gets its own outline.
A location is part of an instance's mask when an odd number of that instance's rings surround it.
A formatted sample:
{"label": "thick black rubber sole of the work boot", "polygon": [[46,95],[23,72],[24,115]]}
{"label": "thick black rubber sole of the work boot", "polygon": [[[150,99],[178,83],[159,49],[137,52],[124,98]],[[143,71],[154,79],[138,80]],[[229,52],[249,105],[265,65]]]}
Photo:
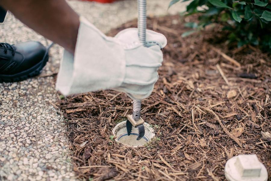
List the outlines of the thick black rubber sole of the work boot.
{"label": "thick black rubber sole of the work boot", "polygon": [[25,71],[22,71],[17,74],[13,74],[13,75],[1,75],[0,74],[0,83],[18,82],[18,81],[23,81],[23,80],[30,78],[30,77],[35,77],[41,73],[42,68],[48,62],[48,59],[49,59],[49,55],[47,53],[39,63],[37,63],[36,65],[34,65],[33,67],[31,67]]}

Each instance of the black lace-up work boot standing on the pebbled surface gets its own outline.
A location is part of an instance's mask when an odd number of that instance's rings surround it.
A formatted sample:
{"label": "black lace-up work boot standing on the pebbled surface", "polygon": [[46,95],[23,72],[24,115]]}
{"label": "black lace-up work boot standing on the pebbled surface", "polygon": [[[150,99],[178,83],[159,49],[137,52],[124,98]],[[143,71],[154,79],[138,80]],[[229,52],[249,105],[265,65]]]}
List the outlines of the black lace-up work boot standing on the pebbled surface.
{"label": "black lace-up work boot standing on the pebbled surface", "polygon": [[39,42],[0,43],[0,82],[16,82],[39,75],[48,52]]}

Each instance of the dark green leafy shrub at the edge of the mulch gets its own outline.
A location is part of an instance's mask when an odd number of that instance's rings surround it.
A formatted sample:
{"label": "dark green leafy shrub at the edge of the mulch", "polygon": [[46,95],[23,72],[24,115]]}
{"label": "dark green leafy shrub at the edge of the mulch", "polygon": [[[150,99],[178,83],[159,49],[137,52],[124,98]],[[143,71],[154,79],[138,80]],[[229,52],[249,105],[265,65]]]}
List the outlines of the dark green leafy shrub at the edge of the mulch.
{"label": "dark green leafy shrub at the edge of the mulch", "polygon": [[[188,0],[172,0],[169,7],[185,1]],[[199,23],[186,23],[185,26],[193,30],[183,33],[182,37],[217,23],[230,32],[229,43],[237,42],[238,47],[251,44],[271,52],[271,0],[193,0],[185,14],[196,13],[200,14]]]}

